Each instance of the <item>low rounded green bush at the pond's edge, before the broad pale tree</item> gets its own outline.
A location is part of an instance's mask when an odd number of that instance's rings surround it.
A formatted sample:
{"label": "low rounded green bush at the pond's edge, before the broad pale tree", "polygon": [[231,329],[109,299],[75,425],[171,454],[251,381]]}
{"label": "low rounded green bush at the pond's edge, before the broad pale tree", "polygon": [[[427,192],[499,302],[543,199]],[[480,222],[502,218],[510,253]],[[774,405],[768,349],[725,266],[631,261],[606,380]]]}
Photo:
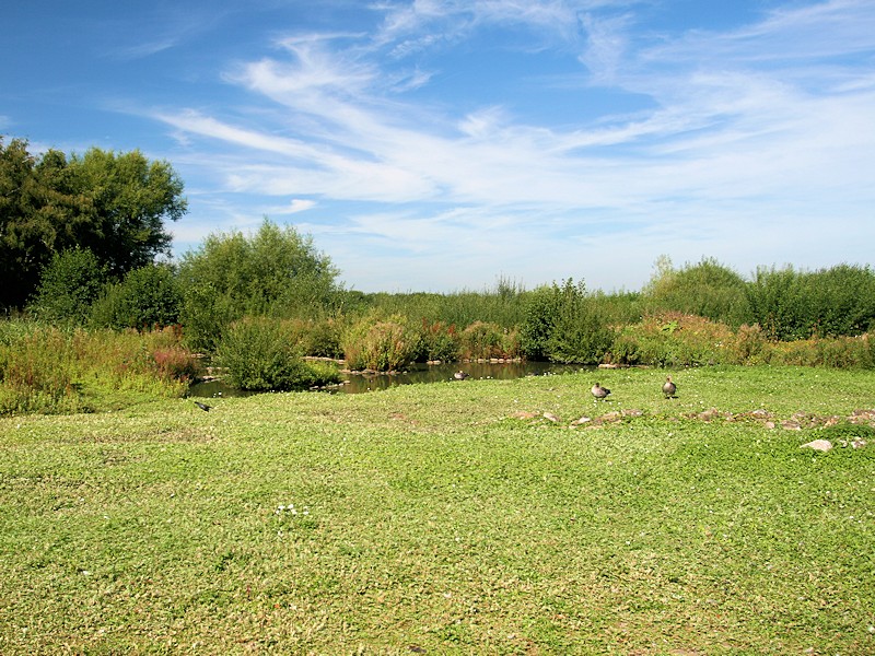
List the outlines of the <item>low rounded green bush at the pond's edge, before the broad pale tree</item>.
{"label": "low rounded green bush at the pond's edge, before the broad pale tree", "polygon": [[267,317],[232,324],[219,343],[217,360],[228,368],[228,382],[240,389],[306,389],[340,379],[336,367],[305,362],[290,325]]}

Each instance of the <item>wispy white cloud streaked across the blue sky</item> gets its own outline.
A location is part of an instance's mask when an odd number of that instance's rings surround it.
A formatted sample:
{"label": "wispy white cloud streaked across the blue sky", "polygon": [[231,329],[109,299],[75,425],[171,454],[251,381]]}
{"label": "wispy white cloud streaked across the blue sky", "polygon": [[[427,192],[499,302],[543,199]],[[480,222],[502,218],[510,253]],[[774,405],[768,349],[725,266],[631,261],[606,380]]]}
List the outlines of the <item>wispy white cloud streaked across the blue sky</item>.
{"label": "wispy white cloud streaked across the blue sky", "polygon": [[[291,199],[272,206],[284,208],[277,214],[314,210],[302,198],[376,203],[307,224],[357,284],[370,273],[351,235],[380,248],[387,267],[401,254],[423,271],[444,262],[448,285],[506,271],[533,248],[551,255],[530,282],[574,274],[598,285],[617,265],[604,245],[621,244],[629,286],[660,253],[734,254],[752,268],[803,238],[839,251],[822,226],[835,219],[829,208],[859,214],[875,200],[875,73],[849,59],[875,54],[875,11],[852,0],[793,4],[728,32],[643,42],[633,4],[373,5],[385,14],[374,33],[285,37],[282,56],[229,72],[229,83],[269,101],[258,113],[155,117],[238,149],[215,164],[225,188]],[[440,77],[441,59],[422,70],[400,60],[487,26],[561,43],[585,66],[575,74],[592,86],[580,94],[608,86],[649,104],[552,124],[520,120],[510,102],[415,99]],[[585,270],[569,270],[578,266]]]}

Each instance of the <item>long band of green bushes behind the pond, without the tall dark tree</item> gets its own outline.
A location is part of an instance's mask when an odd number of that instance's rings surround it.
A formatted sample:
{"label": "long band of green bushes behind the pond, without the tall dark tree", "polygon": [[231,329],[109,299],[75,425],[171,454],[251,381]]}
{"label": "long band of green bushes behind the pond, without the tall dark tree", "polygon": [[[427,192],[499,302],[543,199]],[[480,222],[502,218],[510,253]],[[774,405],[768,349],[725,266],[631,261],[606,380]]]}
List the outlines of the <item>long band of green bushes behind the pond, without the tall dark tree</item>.
{"label": "long band of green bushes behind the pond, without the tall dark tree", "polygon": [[[760,268],[748,280],[713,259],[675,268],[661,258],[644,289],[612,293],[568,279],[533,290],[499,280],[479,292],[365,294],[345,289],[337,277],[310,237],[265,220],[253,235],[213,234],[174,265],[151,263],[120,278],[91,250],[56,254],[24,312],[52,325],[180,326],[186,344],[208,353],[235,335],[252,338],[254,325],[270,326],[300,354],[376,370],[462,358],[737,361],[713,353],[646,355],[630,345],[630,335],[656,326],[663,337],[689,339],[719,326],[748,341],[781,343],[859,338],[875,326],[875,273],[855,265]],[[241,323],[248,323],[246,330]]]}

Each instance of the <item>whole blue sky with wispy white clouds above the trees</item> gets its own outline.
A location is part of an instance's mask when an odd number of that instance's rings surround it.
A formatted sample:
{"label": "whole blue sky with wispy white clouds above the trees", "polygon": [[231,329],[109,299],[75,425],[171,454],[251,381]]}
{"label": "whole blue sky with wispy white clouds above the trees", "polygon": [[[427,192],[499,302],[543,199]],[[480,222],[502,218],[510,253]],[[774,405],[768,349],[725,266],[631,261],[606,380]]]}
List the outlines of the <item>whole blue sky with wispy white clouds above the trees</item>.
{"label": "whole blue sky with wispy white clouds above the trees", "polygon": [[0,133],[168,161],[365,292],[875,262],[872,0],[10,2]]}

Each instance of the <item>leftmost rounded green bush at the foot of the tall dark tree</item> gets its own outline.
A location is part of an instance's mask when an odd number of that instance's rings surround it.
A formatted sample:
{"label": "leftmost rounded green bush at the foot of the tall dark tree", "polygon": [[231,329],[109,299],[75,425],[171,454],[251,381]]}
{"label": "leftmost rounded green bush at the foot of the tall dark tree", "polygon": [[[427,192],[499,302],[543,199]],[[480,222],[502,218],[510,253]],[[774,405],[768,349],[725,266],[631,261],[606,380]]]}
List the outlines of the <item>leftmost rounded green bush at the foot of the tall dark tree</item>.
{"label": "leftmost rounded green bush at the foot of the tall dark tree", "polygon": [[43,270],[31,312],[45,321],[83,325],[105,284],[105,267],[91,250],[55,254]]}

